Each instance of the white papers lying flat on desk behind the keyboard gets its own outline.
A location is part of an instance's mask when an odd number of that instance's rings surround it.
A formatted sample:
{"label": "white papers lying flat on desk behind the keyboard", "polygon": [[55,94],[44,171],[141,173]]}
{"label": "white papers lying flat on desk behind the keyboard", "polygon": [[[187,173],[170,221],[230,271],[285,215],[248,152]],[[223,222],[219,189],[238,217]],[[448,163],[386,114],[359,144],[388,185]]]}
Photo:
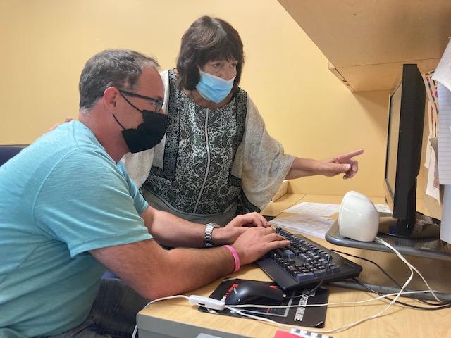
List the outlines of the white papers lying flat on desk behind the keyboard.
{"label": "white papers lying flat on desk behind the keyboard", "polygon": [[303,213],[290,216],[282,216],[270,220],[269,223],[284,227],[288,230],[294,230],[311,236],[325,238],[329,228],[333,225],[334,220],[324,218],[312,213]]}

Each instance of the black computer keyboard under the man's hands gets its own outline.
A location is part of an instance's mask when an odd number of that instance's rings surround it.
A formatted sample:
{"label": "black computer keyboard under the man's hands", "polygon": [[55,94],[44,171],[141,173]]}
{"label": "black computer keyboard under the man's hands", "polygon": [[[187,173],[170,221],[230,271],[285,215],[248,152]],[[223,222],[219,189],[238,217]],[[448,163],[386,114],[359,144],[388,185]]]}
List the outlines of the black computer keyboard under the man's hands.
{"label": "black computer keyboard under the man's hands", "polygon": [[301,287],[319,282],[345,280],[357,277],[362,267],[342,258],[299,234],[277,227],[278,234],[290,241],[290,245],[282,249],[269,251],[257,261],[259,267],[282,289]]}

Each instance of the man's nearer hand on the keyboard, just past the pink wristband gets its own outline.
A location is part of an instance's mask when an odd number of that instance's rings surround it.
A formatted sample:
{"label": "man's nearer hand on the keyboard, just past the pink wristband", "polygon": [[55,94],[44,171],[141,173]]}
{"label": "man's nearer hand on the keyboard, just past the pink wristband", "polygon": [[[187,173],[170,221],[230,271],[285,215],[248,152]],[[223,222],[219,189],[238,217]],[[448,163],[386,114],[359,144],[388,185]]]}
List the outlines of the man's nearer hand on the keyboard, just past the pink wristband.
{"label": "man's nearer hand on the keyboard, just past the pink wristband", "polygon": [[276,234],[271,227],[254,227],[237,238],[233,247],[240,256],[241,264],[257,261],[268,251],[288,246],[290,241]]}

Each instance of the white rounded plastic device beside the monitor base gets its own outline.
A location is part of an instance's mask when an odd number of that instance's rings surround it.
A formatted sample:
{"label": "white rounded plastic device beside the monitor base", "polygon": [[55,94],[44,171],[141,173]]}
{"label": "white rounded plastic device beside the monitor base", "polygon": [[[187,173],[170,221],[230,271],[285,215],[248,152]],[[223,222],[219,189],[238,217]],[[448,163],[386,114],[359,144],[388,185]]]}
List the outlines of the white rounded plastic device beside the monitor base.
{"label": "white rounded plastic device beside the monitor base", "polygon": [[338,211],[340,235],[361,242],[372,242],[379,229],[379,213],[373,202],[359,192],[347,192]]}

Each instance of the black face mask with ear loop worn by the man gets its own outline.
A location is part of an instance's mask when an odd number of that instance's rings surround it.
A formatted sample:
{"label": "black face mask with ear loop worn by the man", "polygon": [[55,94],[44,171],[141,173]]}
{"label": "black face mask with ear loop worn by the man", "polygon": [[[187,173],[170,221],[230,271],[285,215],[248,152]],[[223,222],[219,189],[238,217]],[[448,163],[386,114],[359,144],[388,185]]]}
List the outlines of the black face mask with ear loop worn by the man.
{"label": "black face mask with ear loop worn by the man", "polygon": [[[133,93],[127,92],[126,94]],[[164,134],[166,133],[166,127],[168,125],[168,115],[160,114],[156,111],[140,111],[139,108],[134,106],[130,101],[128,101],[128,99],[125,98],[125,96],[123,96],[122,92],[121,95],[125,99],[125,101],[130,104],[130,106],[142,113],[143,119],[143,122],[138,125],[136,129],[125,129],[113,114],[113,118],[123,129],[122,135],[124,137],[125,144],[127,144],[130,152],[138,153],[140,151],[151,149],[156,146],[156,144],[159,144],[161,142],[161,139],[163,139]],[[138,96],[137,94],[136,96],[141,97],[142,99],[149,99],[154,102],[159,102],[158,106],[159,109],[161,109],[161,104],[163,104],[162,101],[154,99],[152,97],[142,95]]]}

